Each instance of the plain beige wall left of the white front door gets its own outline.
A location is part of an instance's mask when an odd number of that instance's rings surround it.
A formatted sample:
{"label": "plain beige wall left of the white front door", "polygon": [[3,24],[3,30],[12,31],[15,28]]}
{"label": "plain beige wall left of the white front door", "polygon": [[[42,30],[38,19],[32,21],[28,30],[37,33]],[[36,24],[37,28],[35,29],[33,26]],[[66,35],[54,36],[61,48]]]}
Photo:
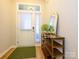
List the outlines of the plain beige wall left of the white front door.
{"label": "plain beige wall left of the white front door", "polygon": [[0,55],[15,44],[15,31],[12,30],[15,26],[14,4],[15,1],[0,0]]}

